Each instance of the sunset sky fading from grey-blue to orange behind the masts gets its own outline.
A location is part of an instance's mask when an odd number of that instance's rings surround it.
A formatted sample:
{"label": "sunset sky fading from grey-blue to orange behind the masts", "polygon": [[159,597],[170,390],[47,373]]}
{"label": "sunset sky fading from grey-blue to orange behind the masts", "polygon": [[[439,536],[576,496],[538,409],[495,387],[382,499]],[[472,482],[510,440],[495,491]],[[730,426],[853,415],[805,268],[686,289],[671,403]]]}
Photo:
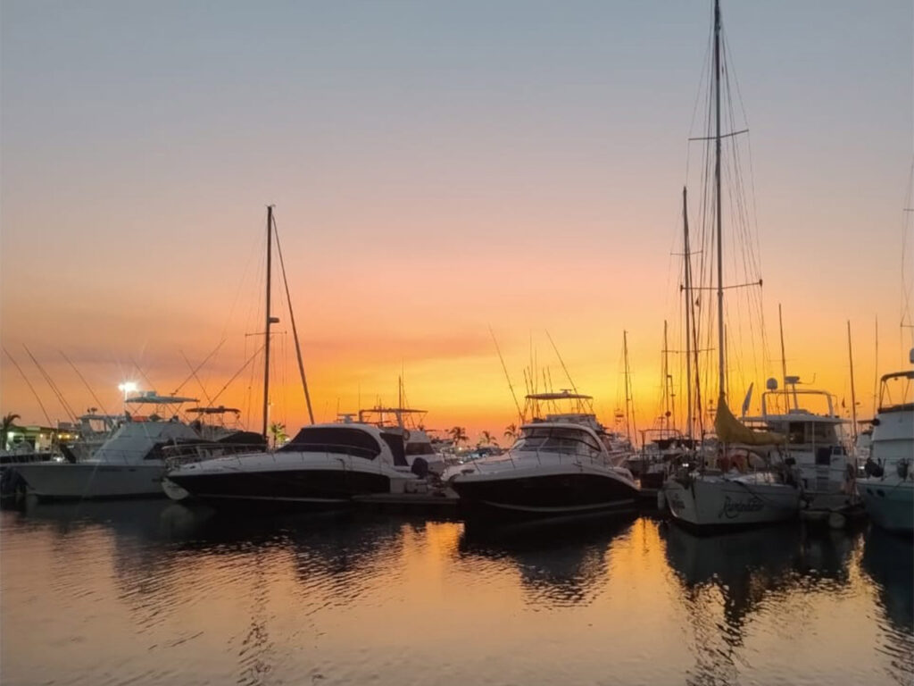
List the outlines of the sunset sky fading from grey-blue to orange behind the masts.
{"label": "sunset sky fading from grey-blue to orange behind the masts", "polygon": [[[395,402],[402,370],[429,426],[500,435],[514,412],[491,326],[520,389],[531,338],[567,385],[548,330],[606,421],[627,329],[649,423],[710,14],[706,0],[4,0],[3,346],[52,420],[66,413],[23,344],[74,409],[95,403],[59,351],[113,411],[118,382],[173,391],[182,353],[197,364],[226,338],[200,371],[212,396],[256,348],[275,203],[319,419]],[[769,343],[782,303],[790,373],[849,402],[850,320],[866,414],[877,317],[879,371],[907,358],[914,10],[778,0],[723,16]],[[294,362],[277,370],[293,430]],[[0,412],[45,423],[6,356],[0,372]],[[219,402],[259,408],[258,383],[246,371]]]}

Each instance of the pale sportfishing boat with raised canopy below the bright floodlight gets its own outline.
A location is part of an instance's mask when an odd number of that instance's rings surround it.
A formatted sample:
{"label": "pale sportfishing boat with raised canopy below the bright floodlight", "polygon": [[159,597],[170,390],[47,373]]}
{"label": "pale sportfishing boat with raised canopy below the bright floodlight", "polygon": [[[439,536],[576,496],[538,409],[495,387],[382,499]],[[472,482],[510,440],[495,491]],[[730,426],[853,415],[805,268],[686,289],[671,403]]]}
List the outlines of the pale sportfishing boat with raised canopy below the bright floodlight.
{"label": "pale sportfishing boat with raised canopy below the bright floodlight", "polygon": [[196,399],[146,391],[124,402],[132,408],[145,406],[154,411],[148,415],[127,413],[111,437],[78,462],[17,465],[16,472],[26,480],[28,492],[41,500],[161,496],[163,449],[199,437],[176,414],[182,403]]}

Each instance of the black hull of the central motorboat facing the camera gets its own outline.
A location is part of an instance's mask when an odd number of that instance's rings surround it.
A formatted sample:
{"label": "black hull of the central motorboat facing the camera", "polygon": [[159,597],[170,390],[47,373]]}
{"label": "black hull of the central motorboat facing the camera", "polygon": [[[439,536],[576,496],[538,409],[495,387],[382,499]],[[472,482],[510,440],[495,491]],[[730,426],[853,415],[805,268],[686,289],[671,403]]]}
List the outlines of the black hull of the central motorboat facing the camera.
{"label": "black hull of the central motorboat facing the camera", "polygon": [[638,489],[597,472],[517,469],[515,474],[457,477],[452,488],[467,515],[555,517],[634,509]]}

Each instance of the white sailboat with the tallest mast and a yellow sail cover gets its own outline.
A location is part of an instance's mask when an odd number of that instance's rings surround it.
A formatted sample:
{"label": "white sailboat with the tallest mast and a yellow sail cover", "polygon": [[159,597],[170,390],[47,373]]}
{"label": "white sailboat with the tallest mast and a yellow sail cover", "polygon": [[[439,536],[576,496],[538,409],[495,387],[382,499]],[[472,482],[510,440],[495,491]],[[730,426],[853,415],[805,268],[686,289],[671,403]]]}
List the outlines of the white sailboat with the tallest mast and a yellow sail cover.
{"label": "white sailboat with the tallest mast and a yellow sail cover", "polygon": [[[674,520],[699,531],[733,529],[738,526],[765,524],[792,519],[800,509],[801,489],[788,466],[781,470],[761,469],[751,472],[730,468],[728,450],[741,448],[762,462],[771,465],[781,456],[785,437],[771,432],[756,432],[739,423],[727,402],[727,369],[724,340],[724,284],[721,211],[721,23],[719,0],[714,3],[714,109],[715,144],[714,200],[715,238],[717,243],[717,381],[718,397],[715,413],[718,456],[724,458],[717,466],[698,465],[694,469],[667,479],[664,497]],[[729,135],[729,134],[727,134]],[[686,259],[689,259],[686,256]],[[690,334],[686,334],[688,338]],[[736,462],[736,461],[734,461]],[[732,463],[731,463],[732,464]]]}

